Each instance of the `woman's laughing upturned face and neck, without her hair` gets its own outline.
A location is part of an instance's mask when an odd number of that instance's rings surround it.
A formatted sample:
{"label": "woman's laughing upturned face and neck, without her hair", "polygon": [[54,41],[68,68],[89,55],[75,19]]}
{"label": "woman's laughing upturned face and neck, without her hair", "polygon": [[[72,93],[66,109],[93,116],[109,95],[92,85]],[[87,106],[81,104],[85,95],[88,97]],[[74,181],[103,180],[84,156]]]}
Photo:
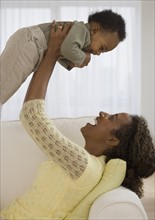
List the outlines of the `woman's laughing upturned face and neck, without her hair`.
{"label": "woman's laughing upturned face and neck, without her hair", "polygon": [[112,134],[113,130],[118,130],[123,125],[131,123],[132,116],[127,113],[110,115],[100,112],[95,119],[95,124],[87,123],[81,128],[81,132],[86,141],[85,149],[95,156],[101,156],[109,147],[117,146],[119,140]]}

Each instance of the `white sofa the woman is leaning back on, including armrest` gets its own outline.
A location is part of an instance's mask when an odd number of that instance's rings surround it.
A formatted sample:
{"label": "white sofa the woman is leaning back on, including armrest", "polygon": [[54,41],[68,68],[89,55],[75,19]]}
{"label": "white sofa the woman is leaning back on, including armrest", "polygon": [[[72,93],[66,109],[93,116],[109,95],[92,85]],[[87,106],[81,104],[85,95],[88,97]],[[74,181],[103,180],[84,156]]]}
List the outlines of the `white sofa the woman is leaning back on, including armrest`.
{"label": "white sofa the woman is leaning back on, including armrest", "polygon": [[[54,119],[59,130],[84,145],[80,128],[92,118]],[[1,122],[1,209],[22,195],[33,182],[38,165],[46,156],[29,137],[20,121]],[[91,206],[90,220],[148,219],[141,200],[132,191],[119,187],[99,198]]]}

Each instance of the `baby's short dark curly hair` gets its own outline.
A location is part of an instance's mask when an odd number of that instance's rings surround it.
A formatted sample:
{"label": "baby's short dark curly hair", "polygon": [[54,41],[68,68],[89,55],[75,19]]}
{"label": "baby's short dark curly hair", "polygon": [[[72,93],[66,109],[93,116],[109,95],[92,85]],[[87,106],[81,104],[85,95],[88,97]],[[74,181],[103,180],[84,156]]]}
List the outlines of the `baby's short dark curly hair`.
{"label": "baby's short dark curly hair", "polygon": [[90,14],[88,23],[96,22],[107,31],[117,32],[119,40],[123,41],[126,38],[125,21],[121,15],[114,13],[112,10],[103,10]]}

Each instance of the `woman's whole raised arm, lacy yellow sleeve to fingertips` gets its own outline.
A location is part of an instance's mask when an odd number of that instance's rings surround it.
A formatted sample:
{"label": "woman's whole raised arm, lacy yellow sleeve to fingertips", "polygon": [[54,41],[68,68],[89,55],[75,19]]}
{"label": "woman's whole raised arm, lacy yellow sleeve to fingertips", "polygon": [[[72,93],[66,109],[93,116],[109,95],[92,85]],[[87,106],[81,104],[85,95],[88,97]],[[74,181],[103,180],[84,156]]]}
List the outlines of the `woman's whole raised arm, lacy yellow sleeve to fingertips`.
{"label": "woman's whole raised arm, lacy yellow sleeve to fingertips", "polygon": [[48,158],[65,169],[73,179],[77,179],[87,167],[88,153],[58,131],[46,114],[44,100],[50,76],[60,56],[60,45],[69,27],[69,24],[65,24],[63,30],[60,28],[55,32],[54,24],[52,25],[48,50],[32,77],[20,119]]}

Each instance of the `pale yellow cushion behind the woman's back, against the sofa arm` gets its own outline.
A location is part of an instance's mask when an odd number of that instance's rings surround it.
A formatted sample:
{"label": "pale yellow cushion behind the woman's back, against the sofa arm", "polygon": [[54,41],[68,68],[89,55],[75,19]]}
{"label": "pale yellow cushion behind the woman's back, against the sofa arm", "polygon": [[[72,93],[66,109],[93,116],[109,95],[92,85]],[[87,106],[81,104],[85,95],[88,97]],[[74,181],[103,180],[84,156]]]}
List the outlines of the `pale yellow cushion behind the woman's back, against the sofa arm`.
{"label": "pale yellow cushion behind the woman's back, against the sofa arm", "polygon": [[88,219],[90,207],[100,195],[119,187],[125,177],[126,162],[120,159],[110,160],[105,167],[102,179],[99,184],[76,206],[76,208],[65,218]]}

